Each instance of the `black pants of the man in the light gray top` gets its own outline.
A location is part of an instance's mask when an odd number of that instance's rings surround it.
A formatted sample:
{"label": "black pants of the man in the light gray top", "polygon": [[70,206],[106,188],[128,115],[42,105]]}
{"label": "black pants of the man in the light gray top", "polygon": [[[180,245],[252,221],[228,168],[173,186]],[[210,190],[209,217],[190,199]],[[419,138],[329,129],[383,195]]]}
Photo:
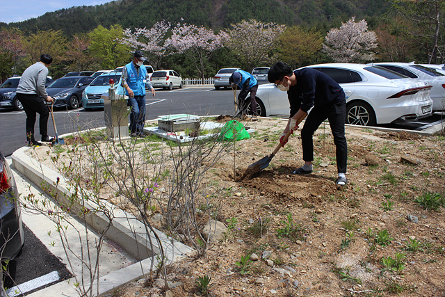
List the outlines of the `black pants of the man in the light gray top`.
{"label": "black pants of the man in the light gray top", "polygon": [[17,93],[17,99],[22,103],[23,109],[26,113],[26,140],[35,141],[34,138],[34,125],[35,115],[40,115],[39,127],[40,135],[43,138],[48,136],[48,117],[49,109],[47,104],[44,104],[44,99],[35,94],[19,94]]}

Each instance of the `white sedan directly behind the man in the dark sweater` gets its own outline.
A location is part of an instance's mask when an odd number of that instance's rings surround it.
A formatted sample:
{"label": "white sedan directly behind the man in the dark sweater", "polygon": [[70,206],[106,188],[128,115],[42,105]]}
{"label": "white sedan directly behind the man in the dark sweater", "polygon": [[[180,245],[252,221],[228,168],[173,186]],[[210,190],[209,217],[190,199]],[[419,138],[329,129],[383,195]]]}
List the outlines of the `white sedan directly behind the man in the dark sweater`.
{"label": "white sedan directly behind the man in the dark sweater", "polygon": [[[337,81],[346,94],[346,123],[372,126],[431,115],[431,86],[383,67],[332,63],[311,65]],[[289,117],[286,92],[273,83],[258,87],[259,115]]]}

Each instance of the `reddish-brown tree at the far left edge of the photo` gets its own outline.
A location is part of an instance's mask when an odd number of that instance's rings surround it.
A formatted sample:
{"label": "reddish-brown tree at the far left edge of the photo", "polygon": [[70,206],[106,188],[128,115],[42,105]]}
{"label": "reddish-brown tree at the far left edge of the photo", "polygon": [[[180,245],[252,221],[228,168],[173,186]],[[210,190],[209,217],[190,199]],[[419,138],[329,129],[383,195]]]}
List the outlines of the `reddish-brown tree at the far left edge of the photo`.
{"label": "reddish-brown tree at the far left edge of the photo", "polygon": [[22,34],[15,30],[0,31],[0,76],[1,81],[15,73],[17,61],[24,56]]}

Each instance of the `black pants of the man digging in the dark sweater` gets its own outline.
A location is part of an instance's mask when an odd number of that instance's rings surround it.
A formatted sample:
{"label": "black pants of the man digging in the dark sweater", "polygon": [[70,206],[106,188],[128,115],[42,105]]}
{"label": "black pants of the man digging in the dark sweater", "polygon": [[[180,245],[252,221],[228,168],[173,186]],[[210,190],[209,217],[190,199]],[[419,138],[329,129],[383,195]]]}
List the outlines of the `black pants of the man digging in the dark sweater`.
{"label": "black pants of the man digging in the dark sweater", "polygon": [[346,100],[327,106],[314,106],[307,115],[305,126],[301,130],[303,160],[314,161],[312,136],[326,119],[329,120],[332,136],[334,136],[337,170],[339,173],[346,173],[346,163],[348,162],[348,145],[345,137]]}

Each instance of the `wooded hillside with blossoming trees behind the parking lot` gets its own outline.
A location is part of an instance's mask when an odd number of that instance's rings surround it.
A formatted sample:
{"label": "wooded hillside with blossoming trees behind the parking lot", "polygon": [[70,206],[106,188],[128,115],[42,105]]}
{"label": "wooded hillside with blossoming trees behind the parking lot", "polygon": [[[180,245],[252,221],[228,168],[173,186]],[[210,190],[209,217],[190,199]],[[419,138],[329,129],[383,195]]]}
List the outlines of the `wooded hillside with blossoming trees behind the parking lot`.
{"label": "wooded hillside with blossoming trees behind the parking lot", "polygon": [[43,53],[58,78],[120,67],[134,49],[156,70],[201,78],[275,61],[444,63],[444,37],[445,1],[437,0],[119,0],[0,23],[0,79]]}

